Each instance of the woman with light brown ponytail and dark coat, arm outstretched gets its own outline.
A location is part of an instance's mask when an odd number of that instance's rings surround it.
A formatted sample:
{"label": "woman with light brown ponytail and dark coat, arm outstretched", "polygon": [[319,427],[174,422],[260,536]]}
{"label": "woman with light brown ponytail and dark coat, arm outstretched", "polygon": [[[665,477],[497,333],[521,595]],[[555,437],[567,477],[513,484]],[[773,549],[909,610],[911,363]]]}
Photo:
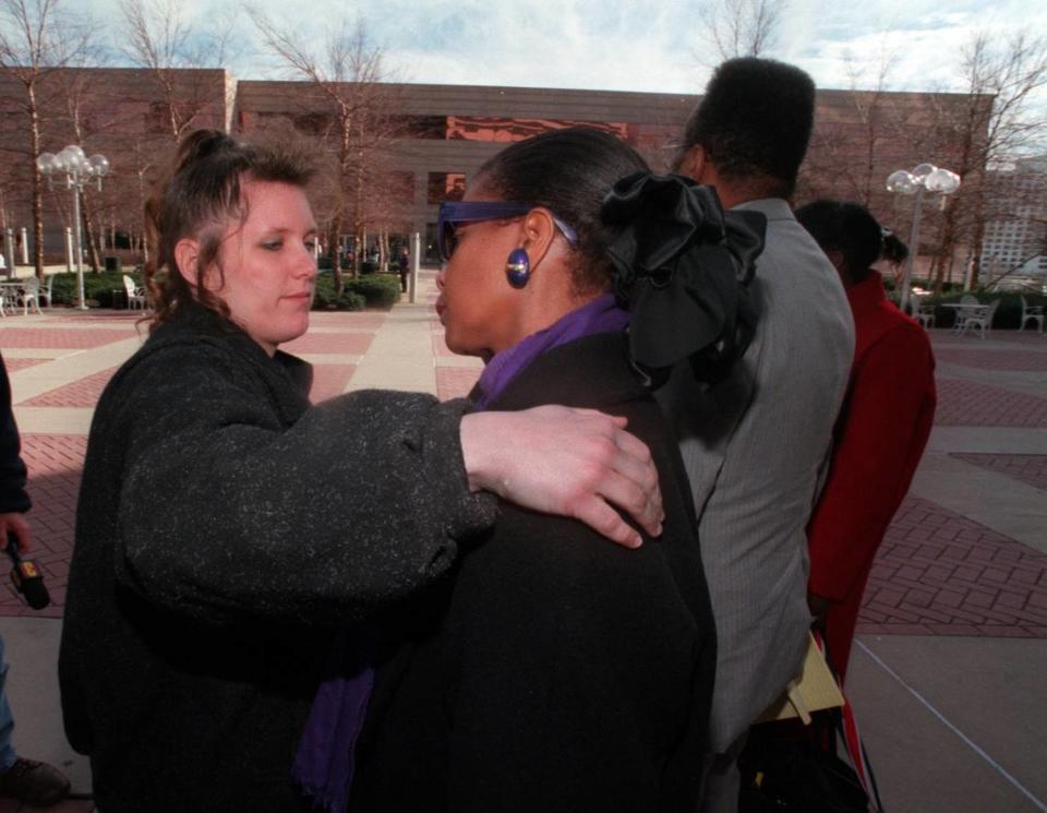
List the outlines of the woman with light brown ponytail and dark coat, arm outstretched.
{"label": "woman with light brown ponytail and dark coat, arm outstretched", "polygon": [[[291,761],[334,631],[444,576],[495,491],[626,546],[661,507],[624,421],[366,391],[311,407],[310,168],[200,131],[149,207],[151,336],[84,465],[60,654],[65,729],[122,811],[297,811]],[[612,546],[609,546],[612,547]]]}

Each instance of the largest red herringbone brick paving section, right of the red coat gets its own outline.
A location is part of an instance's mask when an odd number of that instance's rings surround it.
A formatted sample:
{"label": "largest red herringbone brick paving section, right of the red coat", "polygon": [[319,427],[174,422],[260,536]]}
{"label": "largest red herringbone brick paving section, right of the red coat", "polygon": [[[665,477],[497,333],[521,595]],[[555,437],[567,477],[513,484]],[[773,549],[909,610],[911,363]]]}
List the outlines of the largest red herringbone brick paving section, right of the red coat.
{"label": "largest red herringbone brick paving section, right of the red coat", "polygon": [[[914,522],[935,534],[918,548],[899,543]],[[939,538],[950,535],[955,538]],[[954,567],[940,564],[946,557]],[[1047,585],[1047,554],[911,498],[899,510],[874,564],[859,630],[1044,637],[1039,631],[1047,626],[1047,590],[1039,585]]]}

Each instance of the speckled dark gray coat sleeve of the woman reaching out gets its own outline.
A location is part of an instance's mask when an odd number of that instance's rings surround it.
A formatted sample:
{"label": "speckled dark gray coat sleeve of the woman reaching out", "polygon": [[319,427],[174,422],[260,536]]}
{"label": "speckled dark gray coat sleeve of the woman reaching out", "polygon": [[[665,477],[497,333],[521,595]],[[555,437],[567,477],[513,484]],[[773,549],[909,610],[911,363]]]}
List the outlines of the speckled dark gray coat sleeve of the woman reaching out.
{"label": "speckled dark gray coat sleeve of the woman reaching out", "polygon": [[352,621],[493,523],[466,485],[462,403],[362,392],[287,426],[252,364],[205,344],[154,354],[118,387],[117,577],[179,613]]}

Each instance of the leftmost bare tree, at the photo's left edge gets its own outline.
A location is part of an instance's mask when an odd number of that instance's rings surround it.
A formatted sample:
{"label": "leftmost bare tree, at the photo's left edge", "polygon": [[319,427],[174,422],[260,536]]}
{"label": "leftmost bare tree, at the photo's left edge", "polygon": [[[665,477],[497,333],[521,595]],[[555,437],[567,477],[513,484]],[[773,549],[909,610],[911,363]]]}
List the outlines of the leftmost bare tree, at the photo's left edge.
{"label": "leftmost bare tree, at the photo's left edge", "polygon": [[0,0],[0,74],[19,88],[11,99],[25,117],[27,143],[9,152],[21,153],[29,165],[33,195],[33,262],[44,277],[44,178],[36,160],[45,121],[48,75],[75,62],[87,49],[94,26],[82,15],[71,16],[59,0]]}

